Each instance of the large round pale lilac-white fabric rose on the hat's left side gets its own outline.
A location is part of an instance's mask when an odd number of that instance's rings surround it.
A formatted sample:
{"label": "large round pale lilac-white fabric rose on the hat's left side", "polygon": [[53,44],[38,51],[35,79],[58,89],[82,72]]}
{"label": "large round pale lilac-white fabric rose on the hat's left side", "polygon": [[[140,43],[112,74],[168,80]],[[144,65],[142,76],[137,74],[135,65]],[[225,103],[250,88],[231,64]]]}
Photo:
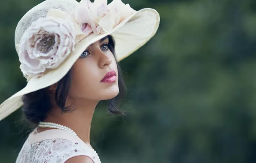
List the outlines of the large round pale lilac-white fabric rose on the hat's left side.
{"label": "large round pale lilac-white fabric rose on the hat's left side", "polygon": [[73,23],[46,17],[34,21],[21,37],[20,69],[26,78],[40,77],[46,69],[57,68],[75,50]]}

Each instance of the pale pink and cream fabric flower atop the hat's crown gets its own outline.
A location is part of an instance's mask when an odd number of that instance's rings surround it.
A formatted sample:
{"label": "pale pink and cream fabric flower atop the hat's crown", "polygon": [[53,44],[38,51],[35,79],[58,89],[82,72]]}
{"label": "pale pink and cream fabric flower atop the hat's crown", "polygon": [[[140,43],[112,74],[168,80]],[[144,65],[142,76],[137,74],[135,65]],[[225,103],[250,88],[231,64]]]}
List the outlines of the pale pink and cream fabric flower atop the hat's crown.
{"label": "pale pink and cream fabric flower atop the hat's crown", "polygon": [[125,18],[136,11],[121,0],[113,0],[107,5],[107,0],[81,0],[75,12],[75,19],[81,25],[85,35],[92,32],[101,34],[111,31]]}

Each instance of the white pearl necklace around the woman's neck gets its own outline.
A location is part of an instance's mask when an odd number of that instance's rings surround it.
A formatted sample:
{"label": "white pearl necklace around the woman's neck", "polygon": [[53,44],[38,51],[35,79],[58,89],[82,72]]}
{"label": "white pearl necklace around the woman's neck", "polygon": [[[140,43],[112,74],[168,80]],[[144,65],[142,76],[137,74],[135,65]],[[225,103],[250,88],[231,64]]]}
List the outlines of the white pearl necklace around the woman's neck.
{"label": "white pearl necklace around the woman's neck", "polygon": [[[60,124],[55,124],[55,123],[52,123],[52,122],[39,122],[38,127],[65,130],[65,131],[73,133],[75,136],[77,136],[76,133],[72,129],[70,129],[69,127],[66,127],[66,126],[63,126],[63,125],[60,125]],[[93,148],[90,148],[90,149],[96,154],[96,156],[100,160],[97,152]],[[100,161],[100,163],[101,163],[101,161]]]}

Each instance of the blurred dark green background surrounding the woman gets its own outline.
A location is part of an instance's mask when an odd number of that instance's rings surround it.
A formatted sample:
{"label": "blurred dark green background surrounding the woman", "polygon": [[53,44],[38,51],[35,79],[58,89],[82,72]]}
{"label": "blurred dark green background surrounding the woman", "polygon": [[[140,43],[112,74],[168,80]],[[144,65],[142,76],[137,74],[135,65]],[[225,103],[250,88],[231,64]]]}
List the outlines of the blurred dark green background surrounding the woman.
{"label": "blurred dark green background surrounding the woman", "polygon": [[[26,80],[15,27],[42,0],[0,5],[0,102]],[[95,111],[91,144],[103,163],[256,163],[256,1],[123,0],[154,8],[156,35],[121,62],[125,117]],[[0,121],[0,163],[27,138],[21,110]]]}

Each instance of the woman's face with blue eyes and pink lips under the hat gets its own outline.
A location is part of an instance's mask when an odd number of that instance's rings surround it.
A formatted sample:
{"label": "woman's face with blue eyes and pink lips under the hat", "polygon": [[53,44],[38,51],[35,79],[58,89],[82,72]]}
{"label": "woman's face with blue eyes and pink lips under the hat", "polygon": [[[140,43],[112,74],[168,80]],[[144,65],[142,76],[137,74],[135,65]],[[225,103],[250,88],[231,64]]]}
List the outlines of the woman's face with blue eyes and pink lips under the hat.
{"label": "woman's face with blue eyes and pink lips under the hat", "polygon": [[109,47],[107,36],[90,45],[74,63],[71,99],[108,100],[119,94],[117,64]]}

